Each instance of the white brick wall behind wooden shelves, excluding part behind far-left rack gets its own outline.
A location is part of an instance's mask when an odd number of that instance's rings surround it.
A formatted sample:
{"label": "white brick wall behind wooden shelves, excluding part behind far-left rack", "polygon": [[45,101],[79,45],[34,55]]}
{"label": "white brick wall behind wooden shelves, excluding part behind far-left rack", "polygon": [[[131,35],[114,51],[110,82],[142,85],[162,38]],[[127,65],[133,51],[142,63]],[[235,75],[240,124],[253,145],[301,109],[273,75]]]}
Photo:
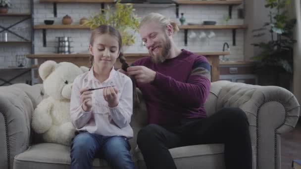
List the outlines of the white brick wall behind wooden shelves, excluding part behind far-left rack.
{"label": "white brick wall behind wooden shelves, excluding part behind far-left rack", "polygon": [[[106,4],[107,5],[107,4]],[[105,6],[106,6],[105,5]],[[90,17],[97,13],[100,9],[100,4],[85,4],[85,3],[58,3],[57,18],[53,16],[51,3],[39,3],[35,0],[35,24],[43,24],[45,19],[53,19],[55,24],[60,24],[63,16],[69,15],[72,17],[73,23],[78,24],[82,17]],[[229,24],[243,24],[244,20],[237,18],[237,9],[240,6],[233,7],[232,19]],[[139,17],[144,17],[151,12],[158,12],[180,24],[179,19],[175,15],[174,5],[148,5],[135,4],[134,8]],[[202,23],[204,20],[215,20],[217,24],[223,23],[224,15],[228,15],[228,6],[219,5],[180,5],[179,13],[184,13],[186,23]],[[194,30],[199,35],[203,30]],[[189,31],[190,32],[190,31]],[[210,30],[204,30],[206,34]],[[184,31],[181,30],[174,40],[180,48],[185,48],[191,51],[221,51],[224,42],[230,45],[231,55],[228,56],[232,60],[244,60],[244,30],[237,30],[236,46],[232,46],[232,30],[213,30],[216,37],[212,39],[194,40],[188,39],[188,46],[184,45]],[[88,51],[90,39],[89,30],[47,30],[47,47],[43,47],[42,31],[35,33],[35,51],[36,53],[53,53],[56,51],[58,36],[68,36],[73,38],[71,46],[74,47],[75,53],[83,53]],[[129,46],[126,52],[147,52],[146,48],[141,45],[139,34],[136,35],[136,43]]]}

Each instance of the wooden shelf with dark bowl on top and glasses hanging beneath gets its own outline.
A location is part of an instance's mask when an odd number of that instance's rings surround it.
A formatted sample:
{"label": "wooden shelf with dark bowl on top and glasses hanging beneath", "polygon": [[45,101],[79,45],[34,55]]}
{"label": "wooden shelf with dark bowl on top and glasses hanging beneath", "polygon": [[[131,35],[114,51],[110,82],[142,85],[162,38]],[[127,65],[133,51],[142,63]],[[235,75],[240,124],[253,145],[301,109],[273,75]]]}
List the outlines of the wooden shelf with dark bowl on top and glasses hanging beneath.
{"label": "wooden shelf with dark bowl on top and glasses hanging beneath", "polygon": [[232,29],[232,41],[233,45],[236,45],[236,30],[237,29],[246,29],[247,25],[182,25],[179,26],[179,29],[184,30],[184,42],[185,46],[187,46],[187,35],[188,30],[190,29]]}

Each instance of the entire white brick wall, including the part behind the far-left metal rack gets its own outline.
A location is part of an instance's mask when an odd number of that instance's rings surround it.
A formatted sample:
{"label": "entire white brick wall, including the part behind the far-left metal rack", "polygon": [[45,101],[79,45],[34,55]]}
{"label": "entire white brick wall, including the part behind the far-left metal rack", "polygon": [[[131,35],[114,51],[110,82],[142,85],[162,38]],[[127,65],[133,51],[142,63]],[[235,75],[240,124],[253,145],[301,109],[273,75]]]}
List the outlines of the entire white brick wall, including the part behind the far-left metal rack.
{"label": "entire white brick wall, including the part behind the far-left metal rack", "polygon": [[[11,0],[13,7],[9,9],[11,13],[30,13],[30,0]],[[78,24],[82,17],[90,17],[100,10],[100,4],[85,4],[85,3],[58,3],[57,17],[53,15],[52,3],[40,3],[39,0],[34,0],[34,24],[43,24],[45,19],[53,19],[55,24],[60,24],[62,17],[69,15],[73,19],[74,24]],[[243,24],[244,20],[237,18],[237,9],[240,6],[234,6],[232,10],[232,19],[229,24]],[[175,15],[174,5],[145,5],[135,4],[134,8],[139,17],[144,17],[150,12],[158,12],[180,24],[179,19]],[[179,13],[184,13],[186,23],[202,23],[204,20],[215,20],[217,24],[223,23],[224,15],[228,15],[227,5],[180,5]],[[21,17],[1,17],[0,25],[8,27],[13,23],[19,21]],[[30,20],[25,21],[10,30],[14,32],[21,32],[20,34],[27,39],[31,38],[30,34]],[[197,35],[201,31],[206,34],[210,30],[194,30]],[[221,51],[224,42],[230,45],[231,55],[227,56],[231,60],[244,60],[244,30],[237,30],[236,46],[232,46],[232,31],[231,30],[213,30],[216,37],[212,39],[200,40],[188,39],[188,46],[184,46],[184,31],[181,30],[174,36],[174,40],[180,48],[185,48],[191,51]],[[191,31],[189,31],[190,33]],[[0,40],[2,35],[0,35]],[[73,38],[71,46],[75,53],[85,53],[88,51],[88,44],[90,39],[89,30],[47,30],[47,47],[43,47],[42,30],[35,31],[35,53],[53,53],[56,52],[57,39],[55,37],[68,36]],[[140,36],[136,35],[136,43],[129,46],[126,52],[147,52],[146,48],[142,46]],[[9,41],[18,41],[19,38],[12,34],[8,34]],[[29,54],[31,52],[30,44],[0,44],[0,68],[8,68],[17,66],[17,54]],[[30,60],[27,61],[27,66],[30,66]],[[0,78],[9,79],[11,75],[0,72]],[[27,77],[26,77],[27,76]],[[30,74],[26,75],[23,80],[30,79]]]}

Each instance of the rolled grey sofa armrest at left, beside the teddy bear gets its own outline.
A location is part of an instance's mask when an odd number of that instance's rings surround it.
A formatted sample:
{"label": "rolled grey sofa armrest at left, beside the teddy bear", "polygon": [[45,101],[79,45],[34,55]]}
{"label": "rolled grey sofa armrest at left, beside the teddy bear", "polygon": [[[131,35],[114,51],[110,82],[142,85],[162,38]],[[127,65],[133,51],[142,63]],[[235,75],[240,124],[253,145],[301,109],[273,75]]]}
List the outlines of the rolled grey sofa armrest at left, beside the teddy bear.
{"label": "rolled grey sofa armrest at left, beside the teddy bear", "polygon": [[13,85],[0,87],[0,169],[12,169],[14,156],[30,144],[33,104]]}

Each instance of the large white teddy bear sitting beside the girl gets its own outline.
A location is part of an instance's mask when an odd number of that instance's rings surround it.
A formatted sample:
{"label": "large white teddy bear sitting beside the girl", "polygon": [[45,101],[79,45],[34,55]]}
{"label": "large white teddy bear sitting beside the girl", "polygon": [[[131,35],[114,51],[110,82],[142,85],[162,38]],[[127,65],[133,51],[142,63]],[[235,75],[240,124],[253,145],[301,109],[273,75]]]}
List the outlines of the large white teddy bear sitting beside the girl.
{"label": "large white teddy bear sitting beside the girl", "polygon": [[40,65],[39,74],[43,80],[45,94],[34,111],[32,127],[42,134],[44,141],[70,145],[75,128],[70,120],[70,97],[74,79],[87,67],[78,67],[73,63],[56,63],[52,60]]}

